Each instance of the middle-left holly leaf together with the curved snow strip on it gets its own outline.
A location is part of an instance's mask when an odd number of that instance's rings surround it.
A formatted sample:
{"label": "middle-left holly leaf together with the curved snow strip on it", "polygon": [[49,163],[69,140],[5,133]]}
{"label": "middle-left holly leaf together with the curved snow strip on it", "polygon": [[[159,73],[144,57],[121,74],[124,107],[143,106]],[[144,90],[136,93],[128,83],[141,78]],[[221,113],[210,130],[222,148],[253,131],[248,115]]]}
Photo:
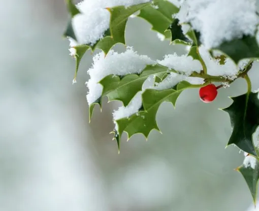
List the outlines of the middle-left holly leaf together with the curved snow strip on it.
{"label": "middle-left holly leaf together with the curved snow strip on it", "polygon": [[[155,64],[155,61],[147,56],[138,55],[132,48],[127,48],[124,53],[120,54],[114,51],[110,51],[106,56],[103,52],[96,54],[93,57],[93,64],[88,70],[90,76],[89,81],[86,83],[89,90],[86,96],[88,104],[94,103],[102,96],[103,87],[104,95],[108,95],[110,100],[120,99],[127,104],[127,101],[130,101],[128,99],[130,96],[124,91],[130,90],[131,85],[142,86],[141,83],[147,77],[141,75],[141,73],[147,65],[153,64]],[[152,72],[152,69],[150,71]],[[123,79],[125,75],[129,76]],[[103,86],[99,83],[100,81]]]}

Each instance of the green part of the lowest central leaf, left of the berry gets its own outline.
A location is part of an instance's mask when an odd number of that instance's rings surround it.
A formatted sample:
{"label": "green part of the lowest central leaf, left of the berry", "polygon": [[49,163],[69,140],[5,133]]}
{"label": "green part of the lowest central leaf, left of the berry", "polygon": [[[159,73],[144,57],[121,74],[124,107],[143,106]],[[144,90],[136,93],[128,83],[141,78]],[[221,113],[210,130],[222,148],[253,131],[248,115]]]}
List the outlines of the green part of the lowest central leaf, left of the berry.
{"label": "green part of the lowest central leaf, left of the berry", "polygon": [[128,139],[136,133],[142,133],[147,138],[153,129],[160,131],[155,120],[160,104],[169,101],[175,106],[180,93],[190,86],[191,84],[188,82],[182,81],[177,86],[167,90],[146,89],[142,94],[143,106],[139,112],[129,118],[115,121],[118,126],[117,138],[120,139],[123,131],[127,133]]}

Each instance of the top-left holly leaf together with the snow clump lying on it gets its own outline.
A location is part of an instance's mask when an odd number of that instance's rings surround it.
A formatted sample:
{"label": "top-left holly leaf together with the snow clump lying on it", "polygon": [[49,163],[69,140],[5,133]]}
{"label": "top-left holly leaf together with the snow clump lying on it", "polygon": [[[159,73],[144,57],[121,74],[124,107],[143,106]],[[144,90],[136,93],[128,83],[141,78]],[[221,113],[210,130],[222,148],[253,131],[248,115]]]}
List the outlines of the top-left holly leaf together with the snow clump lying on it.
{"label": "top-left holly leaf together with the snow clump lying on it", "polygon": [[68,0],[71,18],[64,36],[69,38],[73,47],[70,51],[76,58],[75,76],[88,49],[101,49],[107,54],[116,43],[125,44],[128,17],[150,4],[149,0],[84,0],[75,6]]}

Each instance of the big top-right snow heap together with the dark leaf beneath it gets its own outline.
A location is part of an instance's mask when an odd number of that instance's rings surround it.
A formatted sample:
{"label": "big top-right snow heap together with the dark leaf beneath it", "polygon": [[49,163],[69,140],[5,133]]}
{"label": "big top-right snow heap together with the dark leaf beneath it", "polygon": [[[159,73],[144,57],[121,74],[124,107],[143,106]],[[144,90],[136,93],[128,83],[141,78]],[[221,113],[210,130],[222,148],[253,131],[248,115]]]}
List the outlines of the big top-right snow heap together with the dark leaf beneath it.
{"label": "big top-right snow heap together with the dark leaf beneath it", "polygon": [[200,32],[199,40],[206,49],[218,49],[235,63],[259,57],[255,36],[259,17],[254,0],[186,0],[176,18]]}

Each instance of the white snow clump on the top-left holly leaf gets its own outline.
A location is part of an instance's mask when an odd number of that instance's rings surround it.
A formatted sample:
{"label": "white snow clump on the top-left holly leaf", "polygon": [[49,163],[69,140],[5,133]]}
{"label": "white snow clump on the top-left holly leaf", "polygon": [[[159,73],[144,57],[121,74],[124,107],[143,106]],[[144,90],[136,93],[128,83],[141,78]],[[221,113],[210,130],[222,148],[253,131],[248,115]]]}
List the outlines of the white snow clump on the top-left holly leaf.
{"label": "white snow clump on the top-left holly leaf", "polygon": [[72,20],[78,45],[93,45],[104,37],[109,28],[110,13],[105,8],[131,6],[147,3],[150,0],[84,0],[76,5],[81,14]]}

